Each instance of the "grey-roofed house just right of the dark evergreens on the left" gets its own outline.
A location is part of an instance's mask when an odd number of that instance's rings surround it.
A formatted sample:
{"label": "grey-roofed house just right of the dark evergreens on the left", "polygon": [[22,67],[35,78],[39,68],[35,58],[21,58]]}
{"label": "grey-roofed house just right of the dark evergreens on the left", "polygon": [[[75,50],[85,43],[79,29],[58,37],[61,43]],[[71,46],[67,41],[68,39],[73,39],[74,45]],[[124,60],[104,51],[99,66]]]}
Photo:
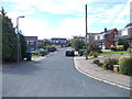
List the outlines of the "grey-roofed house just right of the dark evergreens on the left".
{"label": "grey-roofed house just right of the dark evergreens on the left", "polygon": [[37,36],[25,36],[28,47],[31,51],[34,51],[37,48]]}

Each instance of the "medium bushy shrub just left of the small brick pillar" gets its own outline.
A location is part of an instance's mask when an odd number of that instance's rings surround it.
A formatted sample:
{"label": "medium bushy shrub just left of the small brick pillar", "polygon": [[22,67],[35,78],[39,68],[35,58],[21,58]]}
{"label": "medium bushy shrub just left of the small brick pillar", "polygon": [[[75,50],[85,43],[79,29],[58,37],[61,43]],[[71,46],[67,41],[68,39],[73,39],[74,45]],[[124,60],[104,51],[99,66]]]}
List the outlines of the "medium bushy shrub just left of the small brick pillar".
{"label": "medium bushy shrub just left of the small brick pillar", "polygon": [[108,59],[105,59],[103,61],[103,69],[110,69],[110,70],[113,70],[113,65],[117,65],[118,64],[118,59],[116,58],[108,58]]}

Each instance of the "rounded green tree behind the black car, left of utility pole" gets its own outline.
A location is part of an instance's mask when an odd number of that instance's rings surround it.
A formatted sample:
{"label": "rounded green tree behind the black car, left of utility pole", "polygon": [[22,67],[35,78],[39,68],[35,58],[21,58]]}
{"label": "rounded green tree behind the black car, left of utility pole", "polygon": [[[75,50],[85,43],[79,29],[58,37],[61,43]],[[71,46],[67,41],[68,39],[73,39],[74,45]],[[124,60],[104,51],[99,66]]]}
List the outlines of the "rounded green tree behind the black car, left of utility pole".
{"label": "rounded green tree behind the black car, left of utility pole", "polygon": [[85,46],[85,45],[86,45],[86,44],[85,44],[85,41],[77,38],[77,40],[75,40],[75,41],[73,42],[73,45],[72,45],[72,46],[73,46],[76,51],[79,51],[79,50],[81,50],[82,46]]}

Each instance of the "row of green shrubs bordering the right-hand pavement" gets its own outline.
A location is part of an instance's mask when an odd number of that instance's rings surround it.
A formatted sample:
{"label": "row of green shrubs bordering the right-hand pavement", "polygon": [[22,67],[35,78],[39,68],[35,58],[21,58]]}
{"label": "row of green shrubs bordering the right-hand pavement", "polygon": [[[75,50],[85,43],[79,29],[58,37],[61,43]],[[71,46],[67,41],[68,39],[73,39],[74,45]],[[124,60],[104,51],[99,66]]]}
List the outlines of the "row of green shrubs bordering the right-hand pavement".
{"label": "row of green shrubs bordering the right-hand pavement", "polygon": [[132,56],[121,56],[119,59],[108,58],[105,59],[103,63],[100,63],[99,59],[94,59],[92,63],[102,66],[103,69],[110,70],[113,70],[113,65],[119,64],[119,72],[121,74],[132,76]]}

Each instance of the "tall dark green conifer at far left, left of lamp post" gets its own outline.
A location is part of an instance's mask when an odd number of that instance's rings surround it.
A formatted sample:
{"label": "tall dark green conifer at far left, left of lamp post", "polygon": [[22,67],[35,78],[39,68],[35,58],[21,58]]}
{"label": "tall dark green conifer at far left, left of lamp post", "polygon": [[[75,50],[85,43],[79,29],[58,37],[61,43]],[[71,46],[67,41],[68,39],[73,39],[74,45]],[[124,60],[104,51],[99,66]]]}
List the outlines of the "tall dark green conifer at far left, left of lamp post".
{"label": "tall dark green conifer at far left, left of lamp post", "polygon": [[16,34],[11,19],[6,16],[3,8],[0,11],[0,18],[2,19],[2,61],[13,62],[16,61]]}

